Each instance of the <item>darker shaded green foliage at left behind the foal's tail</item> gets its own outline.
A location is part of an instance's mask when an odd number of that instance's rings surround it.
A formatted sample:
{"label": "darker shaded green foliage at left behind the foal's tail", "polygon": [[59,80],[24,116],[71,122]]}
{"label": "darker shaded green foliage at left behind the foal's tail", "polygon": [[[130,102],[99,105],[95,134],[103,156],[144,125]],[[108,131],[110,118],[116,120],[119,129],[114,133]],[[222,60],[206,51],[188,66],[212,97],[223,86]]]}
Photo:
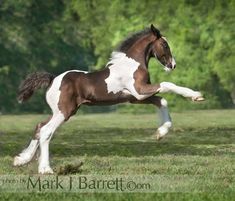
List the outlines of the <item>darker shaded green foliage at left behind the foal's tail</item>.
{"label": "darker shaded green foliage at left behind the foal's tail", "polygon": [[[38,93],[27,106],[16,101],[20,81],[33,71],[59,74],[91,65],[92,51],[78,33],[77,18],[65,15],[62,1],[3,1],[0,4],[0,111],[42,112]],[[40,97],[40,98],[39,98]]]}

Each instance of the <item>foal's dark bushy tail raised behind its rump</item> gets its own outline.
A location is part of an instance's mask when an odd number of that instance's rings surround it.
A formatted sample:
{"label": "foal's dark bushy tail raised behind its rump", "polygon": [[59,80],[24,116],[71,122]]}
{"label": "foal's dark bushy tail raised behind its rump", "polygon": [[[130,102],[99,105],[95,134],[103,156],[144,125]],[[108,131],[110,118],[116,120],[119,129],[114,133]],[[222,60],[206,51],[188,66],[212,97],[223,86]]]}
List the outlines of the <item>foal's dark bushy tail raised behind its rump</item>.
{"label": "foal's dark bushy tail raised behind its rump", "polygon": [[33,95],[35,90],[48,88],[54,78],[54,75],[47,72],[29,74],[19,87],[17,97],[19,103],[27,101]]}

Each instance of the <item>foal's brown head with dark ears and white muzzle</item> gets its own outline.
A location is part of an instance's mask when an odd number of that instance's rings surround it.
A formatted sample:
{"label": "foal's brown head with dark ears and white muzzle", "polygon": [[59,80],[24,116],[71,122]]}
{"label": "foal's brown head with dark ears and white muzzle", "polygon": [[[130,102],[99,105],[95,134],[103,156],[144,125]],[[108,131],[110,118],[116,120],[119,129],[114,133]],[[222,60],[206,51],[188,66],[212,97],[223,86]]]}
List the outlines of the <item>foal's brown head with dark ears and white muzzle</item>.
{"label": "foal's brown head with dark ears and white muzzle", "polygon": [[170,71],[176,68],[175,59],[172,57],[170,47],[160,31],[151,25],[152,34],[155,36],[155,40],[152,42],[151,54],[165,67],[166,71]]}

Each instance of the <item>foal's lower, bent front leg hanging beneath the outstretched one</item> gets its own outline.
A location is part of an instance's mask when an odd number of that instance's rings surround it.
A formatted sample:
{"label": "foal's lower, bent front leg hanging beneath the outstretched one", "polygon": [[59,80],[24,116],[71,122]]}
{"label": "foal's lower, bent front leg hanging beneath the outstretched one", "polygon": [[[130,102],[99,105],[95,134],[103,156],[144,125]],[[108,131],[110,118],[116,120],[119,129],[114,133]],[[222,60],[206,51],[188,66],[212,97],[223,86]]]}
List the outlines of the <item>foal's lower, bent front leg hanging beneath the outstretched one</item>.
{"label": "foal's lower, bent front leg hanging beneath the outstretched one", "polygon": [[167,101],[164,98],[159,97],[159,96],[151,96],[144,100],[131,101],[131,103],[152,104],[159,108],[161,123],[160,123],[159,128],[156,131],[157,140],[160,140],[163,136],[165,136],[169,132],[172,126],[172,122],[171,122],[171,118],[170,118],[168,108],[167,108]]}

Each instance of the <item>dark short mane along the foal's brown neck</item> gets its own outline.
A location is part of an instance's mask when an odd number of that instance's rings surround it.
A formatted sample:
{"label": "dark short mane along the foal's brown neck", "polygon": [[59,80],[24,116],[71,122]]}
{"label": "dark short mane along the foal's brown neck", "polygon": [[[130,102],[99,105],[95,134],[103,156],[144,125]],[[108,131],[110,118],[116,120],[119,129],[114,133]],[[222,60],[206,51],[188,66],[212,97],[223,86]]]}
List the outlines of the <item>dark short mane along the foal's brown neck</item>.
{"label": "dark short mane along the foal's brown neck", "polygon": [[150,32],[151,32],[151,29],[146,28],[142,31],[132,34],[131,36],[129,36],[127,39],[123,40],[119,44],[117,51],[126,52],[133,45],[133,43],[135,43],[139,38],[145,36],[146,34],[149,34]]}

